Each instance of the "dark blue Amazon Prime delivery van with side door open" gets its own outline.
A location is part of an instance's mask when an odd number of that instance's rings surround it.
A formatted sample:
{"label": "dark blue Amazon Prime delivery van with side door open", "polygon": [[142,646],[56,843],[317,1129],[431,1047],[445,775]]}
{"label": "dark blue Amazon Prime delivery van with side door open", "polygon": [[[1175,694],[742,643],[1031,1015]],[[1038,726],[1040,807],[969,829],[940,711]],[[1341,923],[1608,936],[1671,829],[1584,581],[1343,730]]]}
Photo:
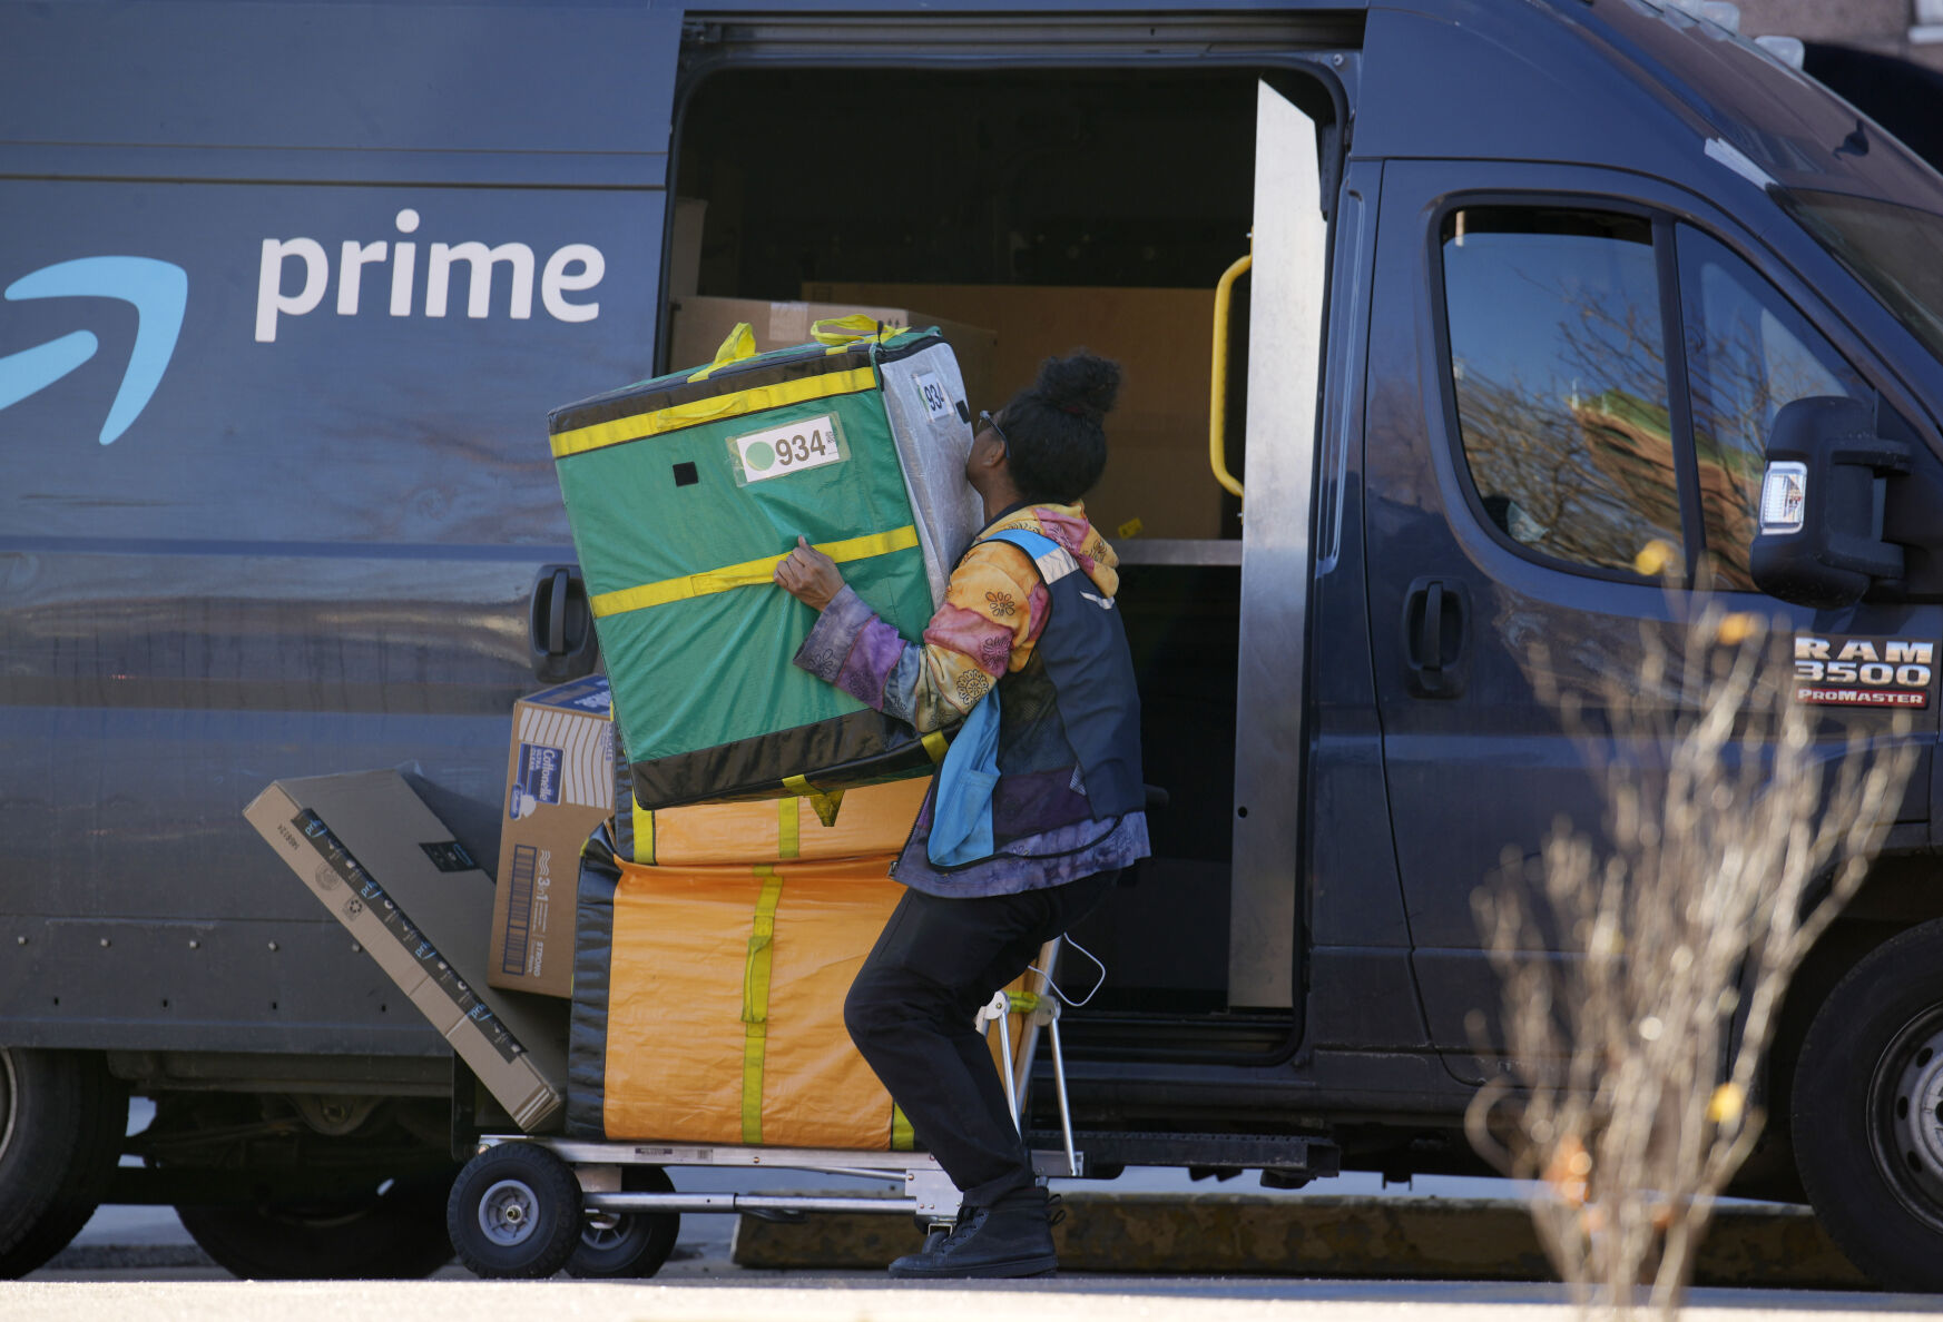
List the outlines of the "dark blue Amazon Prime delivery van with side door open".
{"label": "dark blue Amazon Prime delivery van with side door open", "polygon": [[[1737,1188],[1943,1287],[1943,179],[1772,50],[1652,0],[0,0],[0,1270],[99,1202],[251,1275],[449,1254],[445,1044],[241,808],[398,765],[495,856],[513,701],[597,664],[546,412],[810,299],[993,332],[973,410],[1129,367],[1092,509],[1168,806],[1076,932],[1096,1173],[1479,1169],[1473,891],[1599,823],[1529,643],[1624,676],[1657,542],[1898,644],[1817,676],[1918,761]],[[1784,602],[1803,398],[1906,462]]]}

